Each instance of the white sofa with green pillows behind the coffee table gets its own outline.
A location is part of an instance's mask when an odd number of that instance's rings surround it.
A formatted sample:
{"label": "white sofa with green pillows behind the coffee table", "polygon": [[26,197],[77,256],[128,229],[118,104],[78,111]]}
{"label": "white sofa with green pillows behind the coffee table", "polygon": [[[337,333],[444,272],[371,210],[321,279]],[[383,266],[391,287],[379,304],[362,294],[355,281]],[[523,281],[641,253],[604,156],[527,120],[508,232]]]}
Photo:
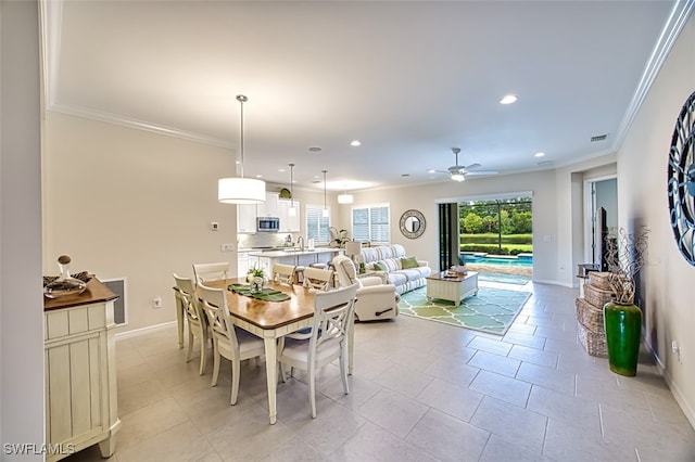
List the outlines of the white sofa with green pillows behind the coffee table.
{"label": "white sofa with green pillows behind the coffee table", "polygon": [[395,285],[399,294],[424,286],[425,278],[432,273],[426,260],[408,256],[400,244],[364,247],[356,260],[364,262],[367,271],[375,271]]}

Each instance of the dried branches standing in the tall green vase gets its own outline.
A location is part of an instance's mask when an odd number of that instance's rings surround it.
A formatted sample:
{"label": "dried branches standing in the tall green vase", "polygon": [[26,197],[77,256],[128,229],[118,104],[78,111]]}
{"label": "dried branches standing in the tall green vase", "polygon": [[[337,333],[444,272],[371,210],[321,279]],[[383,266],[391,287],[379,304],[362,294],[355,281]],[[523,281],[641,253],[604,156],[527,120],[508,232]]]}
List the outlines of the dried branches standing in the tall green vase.
{"label": "dried branches standing in the tall green vase", "polygon": [[610,272],[610,288],[618,304],[632,305],[635,293],[635,275],[646,265],[648,229],[632,234],[623,228],[614,228],[606,243],[606,262]]}

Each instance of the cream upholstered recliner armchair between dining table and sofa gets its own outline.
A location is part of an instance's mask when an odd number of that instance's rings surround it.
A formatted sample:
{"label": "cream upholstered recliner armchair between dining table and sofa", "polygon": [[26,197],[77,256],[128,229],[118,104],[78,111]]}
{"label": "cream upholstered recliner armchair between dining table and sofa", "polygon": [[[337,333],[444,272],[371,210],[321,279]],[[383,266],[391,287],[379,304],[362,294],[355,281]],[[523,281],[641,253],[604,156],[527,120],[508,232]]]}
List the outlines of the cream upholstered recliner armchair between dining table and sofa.
{"label": "cream upholstered recliner armchair between dining table and sofa", "polygon": [[332,261],[342,287],[357,283],[355,318],[358,321],[393,319],[399,316],[399,294],[393,284],[382,284],[379,277],[357,278],[355,264],[344,255]]}

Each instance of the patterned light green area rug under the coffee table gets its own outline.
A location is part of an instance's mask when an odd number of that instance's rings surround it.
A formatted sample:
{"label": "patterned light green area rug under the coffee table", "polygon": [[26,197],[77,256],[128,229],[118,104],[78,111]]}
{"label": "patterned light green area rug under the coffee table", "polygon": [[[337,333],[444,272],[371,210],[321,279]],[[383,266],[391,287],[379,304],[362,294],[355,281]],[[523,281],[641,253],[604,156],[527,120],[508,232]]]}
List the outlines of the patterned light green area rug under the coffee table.
{"label": "patterned light green area rug under the coffee table", "polygon": [[465,298],[455,307],[453,301],[427,299],[427,287],[401,295],[401,315],[443,322],[459,328],[504,335],[523,304],[529,292],[479,287],[478,295]]}

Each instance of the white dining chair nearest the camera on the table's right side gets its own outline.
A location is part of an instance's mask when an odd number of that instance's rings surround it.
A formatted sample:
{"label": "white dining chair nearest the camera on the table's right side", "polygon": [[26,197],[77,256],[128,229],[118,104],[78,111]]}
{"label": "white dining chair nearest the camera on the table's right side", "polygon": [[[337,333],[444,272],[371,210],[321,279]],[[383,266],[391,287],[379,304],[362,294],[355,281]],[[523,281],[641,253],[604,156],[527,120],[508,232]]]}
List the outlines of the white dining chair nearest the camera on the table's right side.
{"label": "white dining chair nearest the camera on the table's right side", "polygon": [[308,341],[280,338],[278,361],[280,380],[286,381],[282,365],[308,372],[308,400],[312,418],[316,418],[316,371],[336,359],[340,362],[340,376],[345,395],[348,384],[348,336],[353,328],[357,284],[329,292],[317,292],[314,301],[314,322]]}

